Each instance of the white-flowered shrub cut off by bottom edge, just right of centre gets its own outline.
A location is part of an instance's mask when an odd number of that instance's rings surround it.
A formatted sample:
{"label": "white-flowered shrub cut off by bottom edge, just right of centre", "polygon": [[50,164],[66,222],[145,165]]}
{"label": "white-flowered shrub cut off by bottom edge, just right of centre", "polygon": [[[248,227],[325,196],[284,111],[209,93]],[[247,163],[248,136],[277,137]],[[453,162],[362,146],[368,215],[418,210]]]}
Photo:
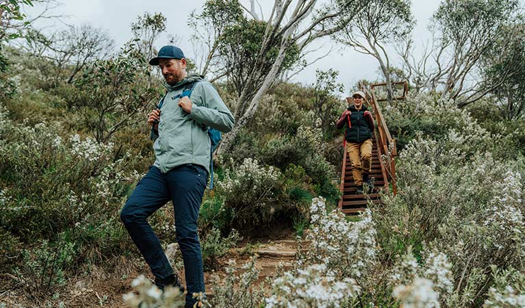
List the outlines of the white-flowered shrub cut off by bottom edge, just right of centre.
{"label": "white-flowered shrub cut off by bottom edge, just right of centre", "polygon": [[343,278],[324,264],[285,272],[272,283],[266,308],[348,307],[359,295],[354,279]]}

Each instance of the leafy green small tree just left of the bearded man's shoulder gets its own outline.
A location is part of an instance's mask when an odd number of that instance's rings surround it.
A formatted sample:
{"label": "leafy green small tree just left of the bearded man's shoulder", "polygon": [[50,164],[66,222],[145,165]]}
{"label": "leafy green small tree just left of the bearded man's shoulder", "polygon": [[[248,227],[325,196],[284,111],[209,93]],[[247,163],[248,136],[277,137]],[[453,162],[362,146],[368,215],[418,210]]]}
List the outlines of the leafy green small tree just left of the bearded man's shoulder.
{"label": "leafy green small tree just left of the bearded man's shoulder", "polygon": [[[94,62],[75,82],[68,103],[79,111],[97,142],[107,142],[116,131],[137,123],[158,92],[147,86],[149,70],[136,45],[108,60]],[[153,104],[151,104],[153,105]]]}

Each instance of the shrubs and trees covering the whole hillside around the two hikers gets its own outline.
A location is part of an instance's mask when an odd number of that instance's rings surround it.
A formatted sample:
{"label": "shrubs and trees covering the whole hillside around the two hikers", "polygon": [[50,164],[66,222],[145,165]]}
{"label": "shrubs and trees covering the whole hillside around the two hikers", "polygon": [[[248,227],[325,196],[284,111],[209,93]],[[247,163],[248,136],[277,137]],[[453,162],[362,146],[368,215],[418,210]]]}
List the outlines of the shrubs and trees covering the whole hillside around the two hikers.
{"label": "shrubs and trees covering the whole hillside around the two hikers", "polygon": [[[508,2],[509,8],[517,5]],[[119,212],[155,159],[146,114],[164,89],[147,59],[166,18],[140,16],[132,25],[136,38],[117,52],[110,52],[110,38],[89,37],[101,49],[66,60],[58,50],[79,53],[66,50],[64,42],[100,30],[73,27],[53,42],[16,24],[21,13],[2,5],[9,9],[2,7],[2,21],[11,21],[6,29],[14,32],[0,36],[0,307],[15,300],[21,307],[64,307],[72,305],[78,281],[103,285],[103,277],[141,262]],[[436,14],[445,12],[440,7]],[[392,99],[388,88],[378,93],[389,98],[381,108],[398,146],[398,194],[384,191],[383,204],[348,217],[336,209],[343,138],[335,122],[346,108],[342,92],[356,89],[345,91],[332,68],[318,70],[315,84],[286,81],[286,73],[300,66],[302,47],[283,47],[276,39],[268,53],[258,54],[266,23],[247,18],[237,1],[207,1],[195,20],[224,22],[221,29],[229,35],[219,40],[210,66],[224,63],[221,50],[231,51],[247,37],[257,44],[242,44],[238,59],[245,63],[262,57],[272,64],[281,51],[287,54],[271,85],[265,84],[271,65],[251,79],[251,89],[243,84],[253,77],[246,67],[235,67],[239,79],[208,72],[242,126],[214,157],[216,189],[205,192],[201,205],[205,270],[225,267],[227,273],[222,284],[207,286],[214,297],[203,305],[525,307],[525,118],[523,97],[515,95],[523,89],[522,81],[503,80],[499,70],[507,67],[510,74],[515,63],[523,68],[522,45],[512,45],[515,53],[502,54],[494,66],[487,60],[494,55],[480,55],[476,65],[485,73],[478,86],[497,81],[500,87],[483,88],[488,90],[479,97],[444,76],[439,78],[446,82],[435,76],[422,85],[417,72],[387,68],[389,78],[409,79],[404,101]],[[520,36],[522,29],[520,20],[496,30]],[[14,44],[17,35],[31,39]],[[35,53],[39,48],[46,51]],[[190,70],[202,73],[198,61],[191,64]],[[520,72],[513,70],[513,78]],[[433,82],[441,86],[428,86]],[[175,242],[171,205],[149,222],[164,246]],[[255,284],[256,256],[242,273],[233,262],[220,261],[242,237],[285,229],[307,240],[308,248],[294,268],[279,270],[262,289]],[[131,307],[141,300],[151,307],[180,305],[179,294],[161,298],[144,277],[133,288],[136,293],[125,295]]]}

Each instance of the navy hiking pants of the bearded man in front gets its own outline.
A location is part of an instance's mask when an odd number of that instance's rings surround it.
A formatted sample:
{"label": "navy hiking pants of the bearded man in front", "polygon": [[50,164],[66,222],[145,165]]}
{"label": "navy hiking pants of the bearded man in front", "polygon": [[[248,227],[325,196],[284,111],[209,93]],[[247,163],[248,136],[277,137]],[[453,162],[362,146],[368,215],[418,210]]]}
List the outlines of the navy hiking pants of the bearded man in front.
{"label": "navy hiking pants of the bearded man in front", "polygon": [[166,279],[173,274],[173,270],[146,218],[172,201],[176,240],[184,261],[187,302],[191,301],[192,293],[204,292],[203,255],[197,234],[197,218],[207,176],[206,169],[199,165],[183,165],[167,173],[151,166],[120,212],[120,219],[151,272],[157,279]]}

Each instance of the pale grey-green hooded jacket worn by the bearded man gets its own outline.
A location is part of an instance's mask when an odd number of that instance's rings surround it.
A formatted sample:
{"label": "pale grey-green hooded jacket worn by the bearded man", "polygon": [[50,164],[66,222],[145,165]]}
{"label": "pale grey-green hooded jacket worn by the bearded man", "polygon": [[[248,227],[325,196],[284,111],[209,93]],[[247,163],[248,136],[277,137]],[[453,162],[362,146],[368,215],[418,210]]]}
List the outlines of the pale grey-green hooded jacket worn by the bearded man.
{"label": "pale grey-green hooded jacket worn by the bearded man", "polygon": [[[179,107],[180,94],[185,85],[195,84],[190,99],[191,114]],[[217,90],[199,75],[188,75],[175,86],[168,87],[161,107],[158,134],[154,134],[153,151],[157,159],[154,166],[166,173],[184,164],[197,164],[209,173],[211,141],[207,127],[223,133],[231,131],[235,120]]]}

